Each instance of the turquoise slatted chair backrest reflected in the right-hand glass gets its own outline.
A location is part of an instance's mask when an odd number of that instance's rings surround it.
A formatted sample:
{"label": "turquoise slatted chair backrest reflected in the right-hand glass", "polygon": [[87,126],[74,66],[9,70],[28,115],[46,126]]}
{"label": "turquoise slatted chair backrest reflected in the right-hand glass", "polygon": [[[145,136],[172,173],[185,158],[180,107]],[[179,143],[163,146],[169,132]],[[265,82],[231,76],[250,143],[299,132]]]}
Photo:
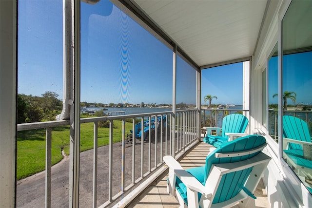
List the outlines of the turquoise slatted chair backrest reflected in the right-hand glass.
{"label": "turquoise slatted chair backrest reflected in the right-hand glass", "polygon": [[[304,120],[291,115],[283,115],[283,137],[311,142],[308,124]],[[302,150],[302,146],[289,143],[288,149]]]}

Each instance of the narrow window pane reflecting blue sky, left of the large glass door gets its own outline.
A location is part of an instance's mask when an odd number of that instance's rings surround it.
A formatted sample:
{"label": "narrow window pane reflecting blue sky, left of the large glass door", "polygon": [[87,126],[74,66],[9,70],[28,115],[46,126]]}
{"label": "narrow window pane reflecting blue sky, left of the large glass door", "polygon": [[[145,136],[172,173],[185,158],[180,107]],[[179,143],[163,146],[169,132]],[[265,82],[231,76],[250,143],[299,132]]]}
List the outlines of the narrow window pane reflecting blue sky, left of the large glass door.
{"label": "narrow window pane reflecting blue sky, left of the large glass door", "polygon": [[268,132],[277,142],[277,43],[268,57]]}

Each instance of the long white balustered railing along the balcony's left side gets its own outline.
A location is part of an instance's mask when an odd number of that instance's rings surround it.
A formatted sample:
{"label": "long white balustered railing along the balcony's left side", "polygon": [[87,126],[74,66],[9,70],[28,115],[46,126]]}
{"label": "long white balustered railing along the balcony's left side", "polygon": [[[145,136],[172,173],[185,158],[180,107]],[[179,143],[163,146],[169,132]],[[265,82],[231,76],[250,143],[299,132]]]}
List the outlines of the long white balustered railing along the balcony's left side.
{"label": "long white balustered railing along the balcony's left side", "polygon": [[[92,189],[92,201],[84,198],[90,195],[90,190],[79,190],[79,203],[83,202],[87,207],[107,207],[117,203],[121,198],[131,193],[142,182],[148,181],[149,176],[163,167],[163,156],[181,155],[190,146],[198,141],[199,125],[198,110],[183,110],[161,113],[144,113],[133,115],[103,116],[80,119],[80,124],[94,123],[94,148],[93,161],[89,161],[93,169],[93,179],[90,186]],[[141,138],[135,138],[132,133],[132,141],[129,139],[130,129],[127,128],[126,119],[132,119],[132,131],[136,132],[136,121],[141,122],[144,129],[144,120],[162,117],[156,128],[149,125],[147,133],[141,133]],[[121,120],[121,142],[114,143],[114,121]],[[109,145],[108,150],[99,155],[98,147],[98,122],[109,122]],[[39,123],[19,124],[18,131],[45,129],[46,130],[46,168],[45,168],[45,205],[51,207],[51,142],[53,127],[69,125],[68,121],[50,121]],[[121,144],[120,144],[121,143]],[[103,155],[104,154],[104,155]],[[104,158],[104,161],[103,161]],[[80,160],[81,161],[81,160]],[[81,162],[80,162],[81,166]],[[108,169],[108,171],[107,171]],[[68,170],[69,171],[69,170]],[[106,172],[108,172],[106,174]],[[69,174],[69,172],[68,172]],[[79,183],[86,183],[88,178],[80,174]],[[100,177],[100,180],[99,180]],[[153,180],[150,181],[151,183]],[[29,185],[31,186],[31,185]],[[83,191],[88,191],[84,193]],[[73,191],[69,191],[71,194]],[[134,193],[131,193],[134,195]],[[19,195],[17,195],[17,198]],[[65,197],[64,197],[65,199]],[[89,201],[88,201],[89,200]],[[18,200],[19,201],[19,200]],[[53,201],[53,200],[52,200]]]}

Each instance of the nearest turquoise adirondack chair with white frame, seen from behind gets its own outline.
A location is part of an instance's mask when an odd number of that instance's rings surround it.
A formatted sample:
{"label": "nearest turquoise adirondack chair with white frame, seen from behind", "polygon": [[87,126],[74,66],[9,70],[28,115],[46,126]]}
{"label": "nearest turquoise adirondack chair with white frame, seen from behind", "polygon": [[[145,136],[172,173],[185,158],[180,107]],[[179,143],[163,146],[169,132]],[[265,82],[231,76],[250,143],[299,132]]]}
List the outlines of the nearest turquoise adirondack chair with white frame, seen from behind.
{"label": "nearest turquoise adirondack chair with white frame, seen from behind", "polygon": [[167,191],[180,207],[224,208],[237,202],[254,206],[253,192],[271,159],[261,152],[265,146],[263,136],[240,137],[210,152],[205,166],[188,170],[164,156],[169,167]]}

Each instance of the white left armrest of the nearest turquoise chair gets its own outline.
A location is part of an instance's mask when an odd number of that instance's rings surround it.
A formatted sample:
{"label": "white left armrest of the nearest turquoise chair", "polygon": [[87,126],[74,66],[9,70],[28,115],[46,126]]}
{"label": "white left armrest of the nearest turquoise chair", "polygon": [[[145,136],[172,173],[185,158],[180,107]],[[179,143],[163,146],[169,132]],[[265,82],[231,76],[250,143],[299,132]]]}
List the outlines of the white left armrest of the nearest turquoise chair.
{"label": "white left armrest of the nearest turquoise chair", "polygon": [[209,198],[212,196],[212,193],[207,193],[207,191],[205,191],[206,190],[205,187],[192,174],[185,171],[181,167],[179,162],[176,161],[175,158],[173,158],[170,155],[167,155],[167,156],[164,156],[163,159],[165,163],[168,165],[169,169],[174,169],[176,176],[183,182],[183,184],[187,188],[195,190],[203,194],[206,198]]}

